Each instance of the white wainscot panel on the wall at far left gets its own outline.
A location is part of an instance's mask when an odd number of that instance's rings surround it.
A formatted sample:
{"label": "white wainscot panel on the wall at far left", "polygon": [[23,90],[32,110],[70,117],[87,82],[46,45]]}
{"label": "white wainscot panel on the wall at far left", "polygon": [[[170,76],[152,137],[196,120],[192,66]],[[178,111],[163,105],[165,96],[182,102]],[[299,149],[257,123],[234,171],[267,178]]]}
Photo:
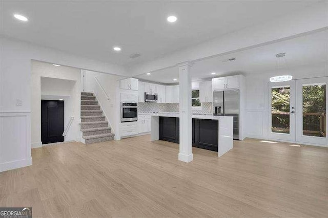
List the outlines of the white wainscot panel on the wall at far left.
{"label": "white wainscot panel on the wall at far left", "polygon": [[0,172],[30,165],[30,112],[0,112]]}

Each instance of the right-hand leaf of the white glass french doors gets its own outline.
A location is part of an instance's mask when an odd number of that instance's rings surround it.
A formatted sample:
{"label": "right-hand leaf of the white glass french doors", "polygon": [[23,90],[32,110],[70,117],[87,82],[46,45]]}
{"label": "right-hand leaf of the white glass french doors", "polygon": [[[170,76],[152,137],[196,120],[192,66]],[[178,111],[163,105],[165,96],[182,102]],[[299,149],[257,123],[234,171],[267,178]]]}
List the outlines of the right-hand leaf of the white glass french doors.
{"label": "right-hand leaf of the white glass french doors", "polygon": [[297,81],[297,141],[328,146],[327,84],[328,77]]}

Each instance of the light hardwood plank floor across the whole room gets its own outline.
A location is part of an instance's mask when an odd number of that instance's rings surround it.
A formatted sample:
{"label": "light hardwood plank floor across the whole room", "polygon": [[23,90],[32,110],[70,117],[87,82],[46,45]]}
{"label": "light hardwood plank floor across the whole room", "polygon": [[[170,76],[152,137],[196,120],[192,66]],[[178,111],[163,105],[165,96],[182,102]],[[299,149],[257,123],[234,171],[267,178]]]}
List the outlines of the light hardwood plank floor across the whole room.
{"label": "light hardwood plank floor across the whole room", "polygon": [[0,206],[34,217],[326,217],[328,149],[234,141],[218,158],[140,136],[32,149],[33,165],[0,173]]}

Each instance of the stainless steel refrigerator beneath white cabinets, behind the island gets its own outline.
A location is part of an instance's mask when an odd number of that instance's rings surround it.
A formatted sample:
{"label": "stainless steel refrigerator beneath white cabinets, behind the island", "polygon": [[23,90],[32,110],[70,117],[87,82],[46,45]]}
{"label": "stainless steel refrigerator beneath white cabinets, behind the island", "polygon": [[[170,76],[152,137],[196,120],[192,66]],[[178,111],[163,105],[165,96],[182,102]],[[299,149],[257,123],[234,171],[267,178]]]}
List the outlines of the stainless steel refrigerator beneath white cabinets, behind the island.
{"label": "stainless steel refrigerator beneath white cabinets, behind the island", "polygon": [[234,117],[234,139],[239,140],[239,90],[213,92],[213,115]]}

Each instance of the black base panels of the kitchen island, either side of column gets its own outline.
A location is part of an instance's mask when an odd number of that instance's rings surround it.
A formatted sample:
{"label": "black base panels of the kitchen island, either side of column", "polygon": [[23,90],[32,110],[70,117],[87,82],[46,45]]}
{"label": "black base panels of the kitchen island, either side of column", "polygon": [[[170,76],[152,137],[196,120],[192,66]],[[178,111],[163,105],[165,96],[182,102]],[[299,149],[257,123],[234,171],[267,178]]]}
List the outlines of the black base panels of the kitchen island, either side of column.
{"label": "black base panels of the kitchen island, either side of column", "polygon": [[[192,119],[192,146],[218,151],[218,120]],[[179,143],[179,118],[159,117],[159,140]]]}

